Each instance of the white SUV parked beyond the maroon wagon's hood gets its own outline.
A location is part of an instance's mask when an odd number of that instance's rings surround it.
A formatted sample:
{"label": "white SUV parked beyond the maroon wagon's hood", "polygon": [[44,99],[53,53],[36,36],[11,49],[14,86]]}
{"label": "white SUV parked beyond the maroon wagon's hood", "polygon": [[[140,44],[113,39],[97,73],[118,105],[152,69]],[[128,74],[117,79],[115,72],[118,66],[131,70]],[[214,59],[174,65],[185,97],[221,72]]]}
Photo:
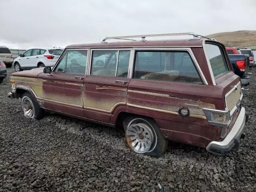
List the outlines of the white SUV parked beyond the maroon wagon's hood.
{"label": "white SUV parked beyond the maroon wagon's hood", "polygon": [[26,50],[14,60],[16,72],[38,67],[52,67],[60,57],[63,49],[60,48],[33,48]]}

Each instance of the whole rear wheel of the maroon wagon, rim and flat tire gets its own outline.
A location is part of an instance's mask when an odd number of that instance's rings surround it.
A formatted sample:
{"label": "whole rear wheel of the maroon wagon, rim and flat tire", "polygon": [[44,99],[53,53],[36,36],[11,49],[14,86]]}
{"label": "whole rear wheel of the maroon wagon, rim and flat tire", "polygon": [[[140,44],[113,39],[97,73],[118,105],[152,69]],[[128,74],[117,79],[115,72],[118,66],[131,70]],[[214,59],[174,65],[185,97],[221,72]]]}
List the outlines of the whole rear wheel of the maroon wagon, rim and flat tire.
{"label": "whole rear wheel of the maroon wagon, rim and flat tire", "polygon": [[136,153],[160,156],[168,146],[168,140],[150,118],[130,117],[124,120],[126,142]]}

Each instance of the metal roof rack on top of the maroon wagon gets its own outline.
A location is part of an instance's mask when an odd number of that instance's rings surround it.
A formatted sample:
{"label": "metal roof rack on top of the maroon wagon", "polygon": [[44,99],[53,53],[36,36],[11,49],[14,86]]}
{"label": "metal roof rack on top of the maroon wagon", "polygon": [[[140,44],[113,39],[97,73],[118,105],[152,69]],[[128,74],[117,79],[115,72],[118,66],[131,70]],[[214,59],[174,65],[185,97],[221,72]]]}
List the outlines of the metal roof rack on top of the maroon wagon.
{"label": "metal roof rack on top of the maroon wagon", "polygon": [[206,38],[206,39],[210,39],[210,40],[215,40],[212,38],[208,38],[202,35],[198,35],[195,34],[194,32],[188,32],[188,33],[166,33],[166,34],[149,34],[149,35],[132,35],[132,36],[116,36],[116,37],[105,37],[102,40],[102,43],[106,42],[107,39],[122,39],[122,40],[132,40],[132,41],[137,41],[134,39],[129,39],[129,38],[142,38],[142,41],[146,41],[145,38],[146,37],[157,37],[157,36],[176,36],[176,35],[192,35],[194,36],[194,38]]}

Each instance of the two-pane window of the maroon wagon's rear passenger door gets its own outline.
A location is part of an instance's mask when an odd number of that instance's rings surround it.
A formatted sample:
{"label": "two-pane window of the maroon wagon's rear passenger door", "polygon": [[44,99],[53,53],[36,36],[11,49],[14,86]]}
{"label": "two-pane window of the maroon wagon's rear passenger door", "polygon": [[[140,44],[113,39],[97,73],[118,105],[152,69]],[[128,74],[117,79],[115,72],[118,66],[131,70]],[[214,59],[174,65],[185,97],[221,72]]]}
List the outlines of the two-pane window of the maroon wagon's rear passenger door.
{"label": "two-pane window of the maroon wagon's rear passenger door", "polygon": [[130,51],[93,51],[91,74],[110,77],[128,77]]}

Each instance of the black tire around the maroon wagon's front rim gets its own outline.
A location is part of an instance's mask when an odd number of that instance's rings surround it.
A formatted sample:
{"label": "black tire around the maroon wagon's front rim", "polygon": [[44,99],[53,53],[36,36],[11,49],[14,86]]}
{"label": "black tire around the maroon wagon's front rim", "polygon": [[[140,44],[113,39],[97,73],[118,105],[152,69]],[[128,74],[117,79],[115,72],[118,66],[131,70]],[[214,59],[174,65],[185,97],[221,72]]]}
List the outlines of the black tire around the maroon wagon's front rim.
{"label": "black tire around the maroon wagon's front rim", "polygon": [[[32,116],[26,116],[25,115],[24,106],[23,106],[24,99],[28,99],[32,103],[32,109],[34,110]],[[44,110],[39,107],[38,102],[36,101],[36,98],[32,94],[30,94],[29,92],[25,92],[22,95],[21,104],[22,104],[22,110],[24,112],[24,116],[26,116],[28,118],[34,118],[34,119],[37,119],[37,120],[42,119],[44,117]]]}

